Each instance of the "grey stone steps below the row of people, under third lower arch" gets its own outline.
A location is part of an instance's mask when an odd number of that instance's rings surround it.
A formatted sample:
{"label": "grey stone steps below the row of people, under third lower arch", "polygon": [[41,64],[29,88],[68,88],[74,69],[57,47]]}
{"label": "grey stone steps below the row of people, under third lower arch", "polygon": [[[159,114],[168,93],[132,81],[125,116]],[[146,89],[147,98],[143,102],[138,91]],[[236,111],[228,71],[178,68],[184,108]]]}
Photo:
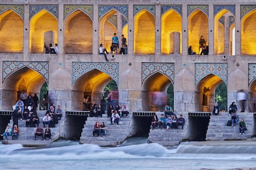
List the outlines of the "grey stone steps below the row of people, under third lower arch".
{"label": "grey stone steps below the row of people, under third lower arch", "polygon": [[[158,119],[161,117],[161,114],[164,113],[156,113]],[[177,118],[179,118],[179,113],[176,113]],[[187,114],[182,114],[185,119],[184,129],[150,129],[150,133],[148,134],[148,142],[155,142],[164,147],[171,147],[174,145],[179,145],[179,143],[186,137],[187,133]]]}

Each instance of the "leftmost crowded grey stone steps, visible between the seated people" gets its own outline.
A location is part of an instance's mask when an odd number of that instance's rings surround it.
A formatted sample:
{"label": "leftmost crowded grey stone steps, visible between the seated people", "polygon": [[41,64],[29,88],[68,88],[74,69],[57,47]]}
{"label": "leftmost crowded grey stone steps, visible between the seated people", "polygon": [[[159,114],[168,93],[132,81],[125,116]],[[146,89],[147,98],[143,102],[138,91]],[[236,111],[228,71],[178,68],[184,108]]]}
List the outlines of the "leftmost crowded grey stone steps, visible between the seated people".
{"label": "leftmost crowded grey stone steps, visible between the seated people", "polygon": [[[45,116],[46,110],[38,110],[36,111],[38,118],[40,119],[40,124],[39,126],[43,127],[43,117]],[[12,127],[13,121],[12,119],[10,120],[10,124]],[[51,129],[51,140],[56,140],[60,137],[60,129],[63,122],[63,117],[59,121],[58,124],[55,124],[55,127],[50,127]],[[43,127],[43,130],[45,132],[45,128]],[[36,127],[26,127],[26,120],[19,119],[19,140],[35,140],[35,131]],[[9,137],[11,139],[11,137]],[[36,140],[41,140],[41,137],[36,137]]]}

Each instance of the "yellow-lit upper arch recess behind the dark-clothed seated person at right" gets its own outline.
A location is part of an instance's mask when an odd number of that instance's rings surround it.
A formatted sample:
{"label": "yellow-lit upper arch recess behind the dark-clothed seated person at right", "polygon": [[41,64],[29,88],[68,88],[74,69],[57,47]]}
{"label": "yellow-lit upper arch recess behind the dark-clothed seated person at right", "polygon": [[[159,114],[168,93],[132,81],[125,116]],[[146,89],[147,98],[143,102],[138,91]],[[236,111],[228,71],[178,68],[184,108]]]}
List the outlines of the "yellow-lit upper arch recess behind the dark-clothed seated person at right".
{"label": "yellow-lit upper arch recess behind the dark-clothed seated person at right", "polygon": [[188,46],[192,46],[193,51],[199,54],[199,39],[203,36],[206,46],[208,46],[208,17],[202,10],[195,10],[188,18]]}

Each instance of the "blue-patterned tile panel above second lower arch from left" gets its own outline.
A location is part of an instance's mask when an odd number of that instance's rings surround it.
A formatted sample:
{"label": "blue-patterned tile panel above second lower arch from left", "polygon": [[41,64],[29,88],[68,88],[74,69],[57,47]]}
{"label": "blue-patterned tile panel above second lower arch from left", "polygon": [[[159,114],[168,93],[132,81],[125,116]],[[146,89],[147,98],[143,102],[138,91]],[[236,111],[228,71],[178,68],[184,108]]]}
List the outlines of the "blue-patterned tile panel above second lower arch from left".
{"label": "blue-patterned tile panel above second lower arch from left", "polygon": [[100,70],[119,83],[119,64],[118,63],[100,63],[100,62],[72,62],[72,84],[83,74],[91,70]]}

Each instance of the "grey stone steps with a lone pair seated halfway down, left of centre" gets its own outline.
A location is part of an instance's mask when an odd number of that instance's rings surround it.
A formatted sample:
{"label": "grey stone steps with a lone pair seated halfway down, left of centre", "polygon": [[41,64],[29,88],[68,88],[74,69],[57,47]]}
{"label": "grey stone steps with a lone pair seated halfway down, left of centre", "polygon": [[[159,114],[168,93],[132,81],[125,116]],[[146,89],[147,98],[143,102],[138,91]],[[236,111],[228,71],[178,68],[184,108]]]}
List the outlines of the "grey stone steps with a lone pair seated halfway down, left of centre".
{"label": "grey stone steps with a lone pair seated halfway down, left of centre", "polygon": [[[105,117],[104,117],[105,116]],[[101,147],[115,147],[122,144],[130,134],[130,122],[131,118],[121,118],[119,124],[111,124],[110,118],[103,114],[102,118],[88,117],[85,121],[85,125],[80,137],[80,144],[95,144]],[[130,116],[130,115],[129,115]],[[102,121],[105,122],[106,134],[105,137],[93,136],[93,126],[96,121],[101,124]]]}

